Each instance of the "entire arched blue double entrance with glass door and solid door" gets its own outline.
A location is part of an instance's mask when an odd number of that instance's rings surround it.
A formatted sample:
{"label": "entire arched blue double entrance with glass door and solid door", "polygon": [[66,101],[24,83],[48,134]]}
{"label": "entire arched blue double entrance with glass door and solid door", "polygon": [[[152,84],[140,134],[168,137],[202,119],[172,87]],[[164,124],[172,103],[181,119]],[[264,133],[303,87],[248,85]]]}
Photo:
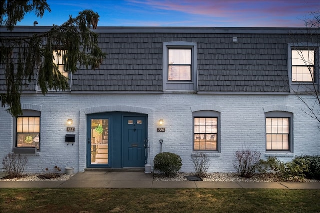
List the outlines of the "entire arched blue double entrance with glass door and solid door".
{"label": "entire arched blue double entrance with glass door and solid door", "polygon": [[87,167],[144,167],[147,115],[107,112],[87,115]]}

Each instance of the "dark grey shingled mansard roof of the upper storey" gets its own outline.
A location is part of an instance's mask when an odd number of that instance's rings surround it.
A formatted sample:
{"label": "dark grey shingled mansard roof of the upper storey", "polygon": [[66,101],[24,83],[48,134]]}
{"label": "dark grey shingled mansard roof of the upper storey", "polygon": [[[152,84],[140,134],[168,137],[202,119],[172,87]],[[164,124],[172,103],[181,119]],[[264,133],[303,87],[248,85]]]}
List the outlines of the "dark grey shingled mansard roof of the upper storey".
{"label": "dark grey shingled mansard roof of the upper storey", "polygon": [[[50,27],[17,26],[1,36],[27,36]],[[72,91],[163,91],[163,43],[197,43],[198,92],[289,92],[288,44],[305,28],[98,27],[108,55],[99,69],[79,69]],[[237,42],[233,42],[233,38]],[[5,86],[1,70],[1,90]],[[35,85],[28,87],[34,90]]]}

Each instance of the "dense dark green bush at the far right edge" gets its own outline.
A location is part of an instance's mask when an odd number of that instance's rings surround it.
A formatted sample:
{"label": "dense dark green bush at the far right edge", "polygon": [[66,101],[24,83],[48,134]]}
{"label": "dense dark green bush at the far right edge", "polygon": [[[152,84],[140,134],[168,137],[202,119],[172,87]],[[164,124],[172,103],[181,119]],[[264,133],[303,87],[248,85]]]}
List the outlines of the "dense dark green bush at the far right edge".
{"label": "dense dark green bush at the far right edge", "polygon": [[316,156],[300,156],[293,160],[296,164],[306,164],[307,169],[303,171],[308,179],[320,179],[320,155]]}

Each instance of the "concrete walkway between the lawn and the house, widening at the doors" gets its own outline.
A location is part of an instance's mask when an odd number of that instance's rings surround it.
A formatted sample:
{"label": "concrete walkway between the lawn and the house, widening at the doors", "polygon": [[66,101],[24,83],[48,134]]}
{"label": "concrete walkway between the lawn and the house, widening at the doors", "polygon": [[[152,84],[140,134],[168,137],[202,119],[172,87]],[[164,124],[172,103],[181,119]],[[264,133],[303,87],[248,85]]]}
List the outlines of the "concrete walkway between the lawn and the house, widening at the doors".
{"label": "concrete walkway between the lawn and the house, widening at the doors", "polygon": [[153,181],[144,172],[78,172],[66,181],[1,181],[0,188],[272,188],[320,189],[320,182]]}

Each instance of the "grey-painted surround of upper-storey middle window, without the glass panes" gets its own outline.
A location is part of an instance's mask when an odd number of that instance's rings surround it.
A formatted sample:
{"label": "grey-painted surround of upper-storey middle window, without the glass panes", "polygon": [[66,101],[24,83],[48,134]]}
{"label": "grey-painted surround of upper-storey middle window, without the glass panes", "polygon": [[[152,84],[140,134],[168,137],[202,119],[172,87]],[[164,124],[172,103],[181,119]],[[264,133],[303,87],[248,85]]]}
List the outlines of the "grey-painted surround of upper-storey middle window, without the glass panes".
{"label": "grey-painted surround of upper-storey middle window, without the glass panes", "polygon": [[[168,80],[169,49],[191,49],[191,80]],[[163,91],[197,91],[197,44],[194,42],[173,41],[163,43]]]}

